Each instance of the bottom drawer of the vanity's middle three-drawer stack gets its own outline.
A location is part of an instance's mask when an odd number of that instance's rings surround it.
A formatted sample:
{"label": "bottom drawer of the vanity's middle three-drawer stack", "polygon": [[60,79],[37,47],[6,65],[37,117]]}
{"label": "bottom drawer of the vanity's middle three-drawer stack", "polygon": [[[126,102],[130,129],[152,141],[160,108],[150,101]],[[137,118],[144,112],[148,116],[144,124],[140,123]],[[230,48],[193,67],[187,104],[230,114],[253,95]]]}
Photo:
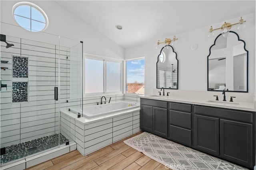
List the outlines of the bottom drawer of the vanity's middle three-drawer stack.
{"label": "bottom drawer of the vanity's middle three-drawer stack", "polygon": [[192,146],[192,131],[181,127],[170,125],[170,139]]}

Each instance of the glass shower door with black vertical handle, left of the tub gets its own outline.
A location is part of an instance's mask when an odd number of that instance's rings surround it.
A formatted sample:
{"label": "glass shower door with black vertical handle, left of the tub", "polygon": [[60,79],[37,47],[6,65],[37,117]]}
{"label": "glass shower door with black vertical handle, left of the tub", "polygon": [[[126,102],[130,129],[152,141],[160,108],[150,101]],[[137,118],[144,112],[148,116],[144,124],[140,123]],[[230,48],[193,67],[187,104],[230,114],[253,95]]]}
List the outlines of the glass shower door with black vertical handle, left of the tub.
{"label": "glass shower door with black vertical handle, left of the tub", "polygon": [[[60,134],[57,45],[6,35],[1,42],[1,165],[66,145]],[[6,69],[2,69],[2,67]],[[55,98],[54,98],[55,96]],[[59,94],[58,94],[59,96]],[[60,142],[62,137],[62,142]]]}

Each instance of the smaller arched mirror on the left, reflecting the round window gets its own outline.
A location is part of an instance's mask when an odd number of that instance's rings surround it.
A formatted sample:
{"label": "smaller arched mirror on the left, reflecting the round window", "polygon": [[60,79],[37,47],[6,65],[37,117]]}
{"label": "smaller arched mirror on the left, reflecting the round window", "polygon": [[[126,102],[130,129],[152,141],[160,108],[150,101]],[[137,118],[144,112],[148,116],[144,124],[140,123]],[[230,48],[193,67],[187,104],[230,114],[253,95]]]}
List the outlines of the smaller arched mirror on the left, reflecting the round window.
{"label": "smaller arched mirror on the left, reflecting the round window", "polygon": [[156,63],[156,88],[178,89],[178,59],[172,46],[164,46]]}

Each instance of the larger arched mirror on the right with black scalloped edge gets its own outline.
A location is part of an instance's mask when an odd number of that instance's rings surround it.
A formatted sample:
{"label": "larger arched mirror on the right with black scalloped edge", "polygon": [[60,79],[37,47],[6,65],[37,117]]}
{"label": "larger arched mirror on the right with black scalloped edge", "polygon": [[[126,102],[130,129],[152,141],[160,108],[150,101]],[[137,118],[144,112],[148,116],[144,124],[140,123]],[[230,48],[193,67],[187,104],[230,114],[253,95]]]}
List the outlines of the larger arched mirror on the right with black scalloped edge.
{"label": "larger arched mirror on the right with black scalloped edge", "polygon": [[248,92],[248,51],[234,31],[216,37],[210,47],[207,67],[208,91]]}

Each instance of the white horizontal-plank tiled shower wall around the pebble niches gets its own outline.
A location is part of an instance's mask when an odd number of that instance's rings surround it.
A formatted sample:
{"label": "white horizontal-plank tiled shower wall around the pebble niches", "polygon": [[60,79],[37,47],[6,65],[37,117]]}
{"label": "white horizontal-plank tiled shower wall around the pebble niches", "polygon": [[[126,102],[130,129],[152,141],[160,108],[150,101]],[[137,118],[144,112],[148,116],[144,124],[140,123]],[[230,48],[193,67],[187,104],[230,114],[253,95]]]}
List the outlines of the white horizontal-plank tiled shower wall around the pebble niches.
{"label": "white horizontal-plank tiled shower wall around the pebble niches", "polygon": [[[59,133],[59,101],[60,110],[82,105],[81,98],[70,99],[70,48],[60,47],[59,51],[58,45],[8,35],[6,39],[14,47],[6,49],[1,42],[1,61],[8,61],[1,63],[1,67],[8,68],[1,70],[2,84],[7,84],[0,93],[1,148]],[[28,102],[12,103],[12,55],[29,58]],[[55,102],[59,56],[60,97]]]}

